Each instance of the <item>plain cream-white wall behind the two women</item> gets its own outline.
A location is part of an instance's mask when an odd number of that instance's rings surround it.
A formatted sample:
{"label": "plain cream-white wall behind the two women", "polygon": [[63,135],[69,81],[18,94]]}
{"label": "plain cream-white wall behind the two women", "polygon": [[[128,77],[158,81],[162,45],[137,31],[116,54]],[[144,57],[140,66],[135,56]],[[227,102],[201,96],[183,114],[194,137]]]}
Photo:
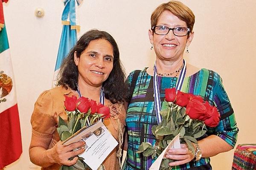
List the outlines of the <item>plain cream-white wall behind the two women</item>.
{"label": "plain cream-white wall behind the two women", "polygon": [[[223,78],[240,129],[238,144],[256,143],[256,1],[181,0],[196,16],[195,36],[186,59]],[[108,31],[119,45],[126,72],[153,65],[148,28],[151,12],[167,0],[84,0],[81,34]],[[37,18],[35,8],[44,8]],[[17,87],[23,153],[6,170],[29,170],[30,116],[38,95],[51,88],[61,36],[60,0],[9,0],[4,14]],[[234,150],[212,157],[214,170],[229,170]]]}

